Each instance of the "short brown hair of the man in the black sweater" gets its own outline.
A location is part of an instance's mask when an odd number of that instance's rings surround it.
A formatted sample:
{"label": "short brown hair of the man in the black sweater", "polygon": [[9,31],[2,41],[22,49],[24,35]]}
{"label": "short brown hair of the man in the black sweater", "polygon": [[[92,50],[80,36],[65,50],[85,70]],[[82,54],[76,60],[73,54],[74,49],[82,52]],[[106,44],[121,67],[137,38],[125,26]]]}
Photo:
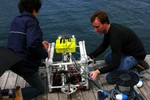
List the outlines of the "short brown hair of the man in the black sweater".
{"label": "short brown hair of the man in the black sweater", "polygon": [[93,22],[96,18],[98,18],[102,24],[108,23],[109,24],[109,18],[104,11],[96,11],[94,14],[91,16],[91,22]]}

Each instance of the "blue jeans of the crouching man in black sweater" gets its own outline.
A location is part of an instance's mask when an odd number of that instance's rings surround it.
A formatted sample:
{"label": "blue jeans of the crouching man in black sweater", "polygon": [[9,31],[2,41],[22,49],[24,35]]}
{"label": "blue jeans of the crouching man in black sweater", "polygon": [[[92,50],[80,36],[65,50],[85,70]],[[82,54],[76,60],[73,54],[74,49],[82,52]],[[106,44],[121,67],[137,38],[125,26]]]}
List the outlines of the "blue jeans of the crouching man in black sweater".
{"label": "blue jeans of the crouching man in black sweater", "polygon": [[[108,64],[112,61],[111,52],[109,52],[105,55],[104,60]],[[120,65],[118,66],[118,68],[116,70],[129,70],[129,69],[133,68],[135,65],[137,65],[137,63],[138,63],[137,60],[133,56],[122,55]],[[109,72],[107,74],[106,80],[109,84],[113,84],[112,80],[111,80],[111,72]]]}

